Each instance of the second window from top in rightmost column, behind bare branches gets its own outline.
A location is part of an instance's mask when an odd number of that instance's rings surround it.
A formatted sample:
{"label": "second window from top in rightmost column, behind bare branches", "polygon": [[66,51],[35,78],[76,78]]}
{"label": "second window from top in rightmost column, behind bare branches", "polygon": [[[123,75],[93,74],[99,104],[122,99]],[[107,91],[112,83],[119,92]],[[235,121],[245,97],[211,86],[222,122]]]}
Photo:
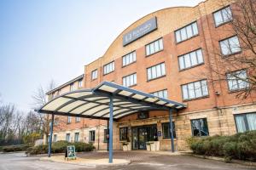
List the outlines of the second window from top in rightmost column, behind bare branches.
{"label": "second window from top in rightmost column, behind bare branches", "polygon": [[219,42],[221,53],[223,55],[236,54],[241,52],[238,37],[229,37]]}

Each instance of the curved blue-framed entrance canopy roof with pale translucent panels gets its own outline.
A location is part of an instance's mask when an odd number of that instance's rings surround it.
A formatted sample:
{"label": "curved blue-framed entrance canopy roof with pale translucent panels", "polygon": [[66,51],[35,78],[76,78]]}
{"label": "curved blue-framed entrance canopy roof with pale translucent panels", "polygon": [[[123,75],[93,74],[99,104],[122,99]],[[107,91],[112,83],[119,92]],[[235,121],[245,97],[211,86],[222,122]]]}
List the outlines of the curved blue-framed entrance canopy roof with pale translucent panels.
{"label": "curved blue-framed entrance canopy roof with pale translucent panels", "polygon": [[182,109],[186,105],[125,88],[113,82],[102,82],[96,88],[61,94],[43,105],[38,112],[62,116],[81,116],[108,120],[110,97],[113,98],[113,119],[139,111]]}

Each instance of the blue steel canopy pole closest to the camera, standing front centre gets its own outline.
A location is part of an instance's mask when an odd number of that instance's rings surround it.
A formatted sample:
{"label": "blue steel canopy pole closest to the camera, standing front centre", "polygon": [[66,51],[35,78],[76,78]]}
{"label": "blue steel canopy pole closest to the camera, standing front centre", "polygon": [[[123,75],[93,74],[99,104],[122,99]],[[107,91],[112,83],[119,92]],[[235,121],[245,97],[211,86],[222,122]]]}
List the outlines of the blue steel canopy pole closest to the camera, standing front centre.
{"label": "blue steel canopy pole closest to the camera, standing front centre", "polygon": [[113,162],[113,96],[109,97],[109,163]]}

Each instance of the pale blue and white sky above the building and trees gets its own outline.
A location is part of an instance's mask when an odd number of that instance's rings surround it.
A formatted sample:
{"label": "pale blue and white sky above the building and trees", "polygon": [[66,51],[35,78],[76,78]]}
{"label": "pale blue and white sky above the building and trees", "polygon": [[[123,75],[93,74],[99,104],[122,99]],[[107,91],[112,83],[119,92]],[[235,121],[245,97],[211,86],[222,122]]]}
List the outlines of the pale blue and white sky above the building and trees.
{"label": "pale blue and white sky above the building and trees", "polygon": [[0,101],[32,108],[39,86],[84,73],[136,20],[203,0],[0,0]]}

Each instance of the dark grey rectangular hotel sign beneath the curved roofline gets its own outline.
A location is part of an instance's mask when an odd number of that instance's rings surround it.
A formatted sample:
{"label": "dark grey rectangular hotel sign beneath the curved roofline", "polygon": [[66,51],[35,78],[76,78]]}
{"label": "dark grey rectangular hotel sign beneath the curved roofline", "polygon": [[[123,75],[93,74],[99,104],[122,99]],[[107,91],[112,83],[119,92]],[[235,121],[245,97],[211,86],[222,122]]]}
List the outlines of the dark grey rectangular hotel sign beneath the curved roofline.
{"label": "dark grey rectangular hotel sign beneath the curved roofline", "polygon": [[134,42],[140,37],[145,36],[151,31],[154,31],[157,29],[157,22],[156,22],[156,17],[147,20],[144,22],[141,26],[137,26],[135,29],[129,31],[123,36],[123,46]]}

